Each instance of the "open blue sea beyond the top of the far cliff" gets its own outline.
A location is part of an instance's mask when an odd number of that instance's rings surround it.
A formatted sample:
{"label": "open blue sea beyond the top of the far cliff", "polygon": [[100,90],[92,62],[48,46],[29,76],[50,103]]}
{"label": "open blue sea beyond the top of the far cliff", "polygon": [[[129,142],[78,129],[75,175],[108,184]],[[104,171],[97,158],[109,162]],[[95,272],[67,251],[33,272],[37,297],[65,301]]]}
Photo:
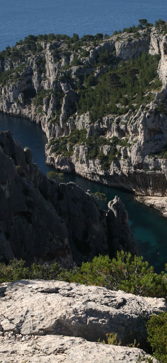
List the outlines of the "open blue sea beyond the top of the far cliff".
{"label": "open blue sea beyond the top of the far cliff", "polygon": [[28,34],[112,34],[140,18],[167,20],[166,0],[0,0],[0,50]]}

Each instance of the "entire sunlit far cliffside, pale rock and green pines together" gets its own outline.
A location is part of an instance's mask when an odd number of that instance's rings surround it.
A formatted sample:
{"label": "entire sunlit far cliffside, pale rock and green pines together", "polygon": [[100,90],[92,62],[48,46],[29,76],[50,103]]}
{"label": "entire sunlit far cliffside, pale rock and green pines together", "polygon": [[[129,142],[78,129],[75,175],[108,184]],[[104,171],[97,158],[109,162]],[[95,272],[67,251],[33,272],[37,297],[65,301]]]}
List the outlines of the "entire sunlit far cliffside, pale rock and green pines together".
{"label": "entire sunlit far cliffside, pale rock and green pines together", "polygon": [[93,42],[30,36],[1,54],[0,110],[41,123],[48,164],[165,196],[165,26]]}

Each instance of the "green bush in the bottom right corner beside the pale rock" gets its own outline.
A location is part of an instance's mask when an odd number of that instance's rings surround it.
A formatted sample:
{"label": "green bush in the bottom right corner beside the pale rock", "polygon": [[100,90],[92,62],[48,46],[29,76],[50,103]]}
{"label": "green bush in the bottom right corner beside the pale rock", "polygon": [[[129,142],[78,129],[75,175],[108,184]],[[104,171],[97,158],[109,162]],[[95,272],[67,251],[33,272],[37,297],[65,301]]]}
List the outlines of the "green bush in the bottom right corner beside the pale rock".
{"label": "green bush in the bottom right corner beside the pale rock", "polygon": [[147,340],[159,363],[167,362],[167,313],[153,315],[147,322]]}

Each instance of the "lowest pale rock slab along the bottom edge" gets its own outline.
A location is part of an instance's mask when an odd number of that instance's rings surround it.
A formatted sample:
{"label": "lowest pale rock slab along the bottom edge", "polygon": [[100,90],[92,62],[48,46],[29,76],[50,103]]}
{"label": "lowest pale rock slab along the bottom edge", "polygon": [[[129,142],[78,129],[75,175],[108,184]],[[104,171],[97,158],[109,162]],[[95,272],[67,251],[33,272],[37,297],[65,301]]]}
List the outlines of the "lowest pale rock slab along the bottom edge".
{"label": "lowest pale rock slab along the bottom edge", "polygon": [[87,342],[62,335],[32,337],[24,342],[15,339],[0,338],[0,363],[136,363],[139,353],[144,354],[138,348]]}

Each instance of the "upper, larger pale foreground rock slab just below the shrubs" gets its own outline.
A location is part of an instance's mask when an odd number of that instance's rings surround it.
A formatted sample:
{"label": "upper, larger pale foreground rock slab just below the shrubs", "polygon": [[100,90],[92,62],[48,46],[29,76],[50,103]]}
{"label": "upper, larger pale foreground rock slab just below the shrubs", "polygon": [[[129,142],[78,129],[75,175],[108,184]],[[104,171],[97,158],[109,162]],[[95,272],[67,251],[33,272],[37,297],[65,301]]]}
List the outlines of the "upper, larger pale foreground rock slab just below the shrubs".
{"label": "upper, larger pale foreground rock slab just below the shrubs", "polygon": [[122,345],[146,342],[146,321],[167,310],[165,299],[63,281],[22,280],[0,285],[3,332],[68,335],[89,341],[117,333]]}

